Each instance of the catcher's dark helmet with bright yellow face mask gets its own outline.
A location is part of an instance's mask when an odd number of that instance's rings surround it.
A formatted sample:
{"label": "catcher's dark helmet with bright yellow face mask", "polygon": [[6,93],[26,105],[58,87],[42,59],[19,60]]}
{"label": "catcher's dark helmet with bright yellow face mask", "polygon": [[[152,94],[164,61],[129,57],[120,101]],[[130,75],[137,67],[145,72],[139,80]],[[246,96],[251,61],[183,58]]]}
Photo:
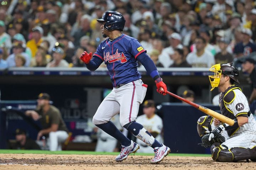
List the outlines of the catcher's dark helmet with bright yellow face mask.
{"label": "catcher's dark helmet with bright yellow face mask", "polygon": [[209,71],[214,72],[214,75],[209,75],[210,84],[212,86],[210,91],[219,86],[221,74],[224,74],[233,79],[236,83],[239,83],[238,79],[236,78],[238,77],[239,72],[230,63],[215,64],[209,69]]}

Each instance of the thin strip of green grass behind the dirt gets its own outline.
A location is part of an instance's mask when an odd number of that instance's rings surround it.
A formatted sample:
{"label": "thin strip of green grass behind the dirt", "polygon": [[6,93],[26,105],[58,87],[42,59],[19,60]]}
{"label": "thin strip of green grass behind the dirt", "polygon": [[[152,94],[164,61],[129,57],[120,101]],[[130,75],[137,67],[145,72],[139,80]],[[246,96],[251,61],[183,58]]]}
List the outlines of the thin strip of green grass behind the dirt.
{"label": "thin strip of green grass behind the dirt", "polygon": [[[92,152],[92,151],[40,151],[40,150],[7,150],[0,149],[0,154],[78,154],[78,155],[118,155],[119,152]],[[131,154],[132,155],[132,154]],[[153,153],[136,153],[135,155],[151,156]],[[182,157],[210,157],[210,154],[170,153],[170,156]]]}

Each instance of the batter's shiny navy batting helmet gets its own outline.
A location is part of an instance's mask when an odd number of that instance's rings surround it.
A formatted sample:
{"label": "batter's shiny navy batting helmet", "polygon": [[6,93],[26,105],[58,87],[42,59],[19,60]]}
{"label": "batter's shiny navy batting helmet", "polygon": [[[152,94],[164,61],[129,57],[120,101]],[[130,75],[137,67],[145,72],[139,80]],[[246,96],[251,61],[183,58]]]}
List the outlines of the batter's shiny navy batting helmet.
{"label": "batter's shiny navy batting helmet", "polygon": [[99,23],[104,23],[104,28],[107,31],[112,31],[115,29],[119,29],[123,31],[125,19],[124,16],[116,11],[107,11],[103,13],[102,18],[97,19]]}

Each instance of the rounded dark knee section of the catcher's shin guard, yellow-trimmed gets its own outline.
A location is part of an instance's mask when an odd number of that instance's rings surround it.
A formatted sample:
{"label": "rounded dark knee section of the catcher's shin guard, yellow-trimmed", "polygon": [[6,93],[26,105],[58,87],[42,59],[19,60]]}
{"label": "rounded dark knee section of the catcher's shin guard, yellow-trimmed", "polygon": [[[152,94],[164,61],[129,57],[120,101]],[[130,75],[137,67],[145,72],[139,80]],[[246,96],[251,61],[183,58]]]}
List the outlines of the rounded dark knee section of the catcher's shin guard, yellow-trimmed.
{"label": "rounded dark knee section of the catcher's shin guard, yellow-trimmed", "polygon": [[233,162],[233,153],[228,149],[222,149],[221,146],[211,149],[212,159],[217,162]]}

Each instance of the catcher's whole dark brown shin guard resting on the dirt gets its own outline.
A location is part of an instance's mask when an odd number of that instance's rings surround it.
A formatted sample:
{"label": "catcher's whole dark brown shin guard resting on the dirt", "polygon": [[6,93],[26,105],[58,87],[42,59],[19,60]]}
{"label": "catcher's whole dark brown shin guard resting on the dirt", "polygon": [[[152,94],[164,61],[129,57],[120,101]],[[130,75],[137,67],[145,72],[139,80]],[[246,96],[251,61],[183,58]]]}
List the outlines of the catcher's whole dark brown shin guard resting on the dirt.
{"label": "catcher's whole dark brown shin guard resting on the dirt", "polygon": [[256,149],[234,147],[222,149],[221,146],[211,149],[212,159],[217,162],[237,162],[239,160],[256,159]]}

